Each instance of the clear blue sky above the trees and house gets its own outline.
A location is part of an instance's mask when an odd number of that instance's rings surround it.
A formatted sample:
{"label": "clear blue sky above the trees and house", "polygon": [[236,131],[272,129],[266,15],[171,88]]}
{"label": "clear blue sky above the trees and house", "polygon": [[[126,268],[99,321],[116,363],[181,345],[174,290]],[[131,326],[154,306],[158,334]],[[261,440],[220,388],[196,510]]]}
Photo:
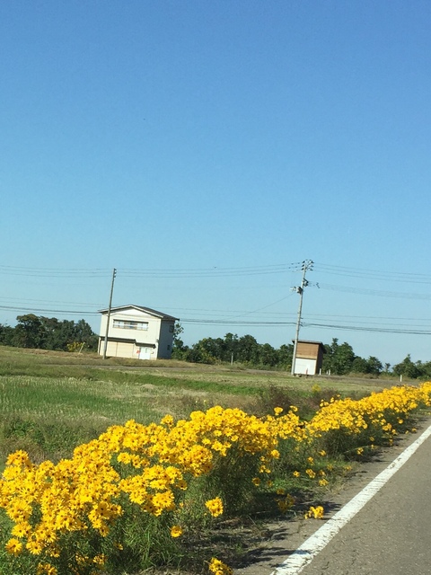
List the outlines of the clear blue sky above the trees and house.
{"label": "clear blue sky above the trees and house", "polygon": [[[0,3],[0,323],[431,360],[431,3]],[[319,284],[319,288],[315,284]],[[416,334],[410,332],[418,332]]]}

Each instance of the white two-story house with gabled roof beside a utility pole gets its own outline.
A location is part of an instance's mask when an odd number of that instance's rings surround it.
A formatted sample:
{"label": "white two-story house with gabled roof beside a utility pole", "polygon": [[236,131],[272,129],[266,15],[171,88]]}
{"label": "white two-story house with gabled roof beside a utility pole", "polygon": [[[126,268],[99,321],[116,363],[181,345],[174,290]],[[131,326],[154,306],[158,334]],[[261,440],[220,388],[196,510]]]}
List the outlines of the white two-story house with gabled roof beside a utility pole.
{"label": "white two-story house with gabled roof beside a utility pole", "polygon": [[[99,354],[104,354],[109,310],[101,310]],[[141,305],[110,309],[106,355],[114,358],[169,359],[176,317]]]}

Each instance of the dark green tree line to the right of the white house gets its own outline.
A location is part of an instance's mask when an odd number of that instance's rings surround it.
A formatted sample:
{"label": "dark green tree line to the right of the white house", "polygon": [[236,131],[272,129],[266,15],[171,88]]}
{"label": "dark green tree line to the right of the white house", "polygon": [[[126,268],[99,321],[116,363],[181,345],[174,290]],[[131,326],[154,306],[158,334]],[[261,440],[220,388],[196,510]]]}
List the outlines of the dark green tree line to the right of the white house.
{"label": "dark green tree line to the right of the white house", "polygon": [[[180,339],[183,332],[177,324],[174,333],[172,358],[183,359],[193,363],[241,363],[257,368],[279,368],[290,370],[294,357],[293,343],[283,344],[278,349],[269,343],[258,343],[252,335],[238,335],[226,333],[224,338],[204,338],[191,346],[184,345]],[[361,358],[357,356],[352,346],[339,343],[333,338],[330,343],[323,344],[322,373],[335,376],[347,374],[365,374],[380,376],[383,373],[409,378],[431,378],[431,361],[413,362],[408,355],[399,364],[383,364],[379,358],[370,356]]]}

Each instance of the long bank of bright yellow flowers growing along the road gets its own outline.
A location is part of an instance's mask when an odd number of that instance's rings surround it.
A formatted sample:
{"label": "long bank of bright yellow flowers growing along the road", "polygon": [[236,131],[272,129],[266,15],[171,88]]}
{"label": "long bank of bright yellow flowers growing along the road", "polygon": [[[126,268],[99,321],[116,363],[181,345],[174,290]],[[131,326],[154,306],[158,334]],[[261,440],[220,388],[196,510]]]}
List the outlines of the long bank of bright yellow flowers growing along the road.
{"label": "long bank of bright yellow flowers growing along the road", "polygon": [[[391,443],[430,397],[426,383],[334,398],[309,421],[295,407],[258,418],[217,406],[189,420],[112,426],[57,464],[16,451],[0,480],[9,572],[89,575],[169,561],[193,524],[238,512],[253,492],[276,491],[286,477],[324,488],[329,455],[353,458]],[[294,506],[284,489],[277,495],[281,511]],[[323,512],[312,506],[305,517]],[[215,558],[209,569],[230,572]]]}

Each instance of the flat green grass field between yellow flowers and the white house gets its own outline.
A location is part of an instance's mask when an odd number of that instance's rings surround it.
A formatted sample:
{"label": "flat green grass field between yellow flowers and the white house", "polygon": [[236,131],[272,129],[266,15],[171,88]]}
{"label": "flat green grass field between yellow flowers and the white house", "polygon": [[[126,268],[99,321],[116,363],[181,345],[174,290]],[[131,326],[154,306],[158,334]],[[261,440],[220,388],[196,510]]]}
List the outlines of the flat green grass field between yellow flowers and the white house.
{"label": "flat green grass field between yellow flowers and the white house", "polygon": [[393,381],[0,347],[0,464],[17,448],[57,460],[76,443],[130,419],[146,424],[165,414],[183,418],[217,404],[261,411],[262,397],[275,389],[301,403],[315,385],[323,395],[330,390],[358,396]]}

